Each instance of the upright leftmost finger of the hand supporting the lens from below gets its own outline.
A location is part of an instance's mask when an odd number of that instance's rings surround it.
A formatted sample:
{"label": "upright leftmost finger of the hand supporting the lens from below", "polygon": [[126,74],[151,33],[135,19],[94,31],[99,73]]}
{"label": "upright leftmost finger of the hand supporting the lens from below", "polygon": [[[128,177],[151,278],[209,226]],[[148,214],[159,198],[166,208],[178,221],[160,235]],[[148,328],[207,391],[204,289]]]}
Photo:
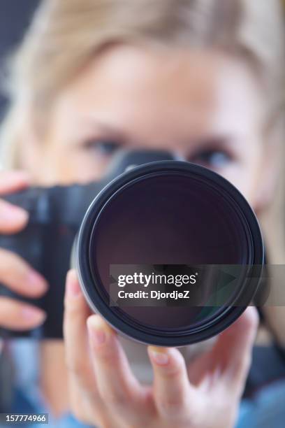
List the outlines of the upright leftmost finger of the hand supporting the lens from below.
{"label": "upright leftmost finger of the hand supporting the lens from below", "polygon": [[88,357],[89,346],[86,327],[89,313],[76,273],[71,270],[66,277],[64,298],[66,365],[73,387],[94,390],[93,370]]}

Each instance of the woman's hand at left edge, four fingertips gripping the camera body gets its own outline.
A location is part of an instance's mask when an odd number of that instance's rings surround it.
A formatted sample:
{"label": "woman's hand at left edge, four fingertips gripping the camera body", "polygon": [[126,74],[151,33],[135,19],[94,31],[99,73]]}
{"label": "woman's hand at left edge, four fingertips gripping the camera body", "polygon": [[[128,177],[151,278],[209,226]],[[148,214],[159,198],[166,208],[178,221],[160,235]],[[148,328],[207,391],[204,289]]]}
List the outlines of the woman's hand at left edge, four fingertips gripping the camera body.
{"label": "woman's hand at left edge, four fingertips gripping the camera body", "polygon": [[[29,186],[22,171],[1,171],[0,195],[18,192]],[[0,199],[0,234],[14,234],[26,227],[29,215],[24,209]],[[0,284],[24,297],[38,298],[47,290],[40,273],[14,252],[0,248]],[[31,304],[0,295],[0,327],[29,330],[42,324],[45,312]]]}

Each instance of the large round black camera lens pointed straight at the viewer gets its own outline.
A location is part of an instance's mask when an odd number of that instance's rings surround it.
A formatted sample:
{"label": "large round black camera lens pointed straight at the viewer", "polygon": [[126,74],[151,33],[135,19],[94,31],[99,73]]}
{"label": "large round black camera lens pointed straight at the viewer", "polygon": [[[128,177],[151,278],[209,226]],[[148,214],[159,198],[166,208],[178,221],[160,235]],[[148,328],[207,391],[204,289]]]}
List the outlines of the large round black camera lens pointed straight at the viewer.
{"label": "large round black camera lens pointed straight at the viewer", "polygon": [[182,346],[219,334],[251,304],[264,248],[231,183],[170,160],[133,167],[101,190],[73,258],[92,311],[120,334]]}

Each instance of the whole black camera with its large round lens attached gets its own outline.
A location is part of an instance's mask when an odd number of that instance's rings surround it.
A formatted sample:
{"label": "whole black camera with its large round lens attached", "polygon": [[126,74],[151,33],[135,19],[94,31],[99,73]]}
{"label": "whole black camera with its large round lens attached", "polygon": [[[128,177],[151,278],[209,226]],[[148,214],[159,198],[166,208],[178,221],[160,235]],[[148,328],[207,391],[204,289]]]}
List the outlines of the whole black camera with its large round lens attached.
{"label": "whole black camera with its large round lens attached", "polygon": [[[62,337],[69,266],[94,312],[124,336],[154,345],[218,334],[261,283],[263,238],[247,201],[219,174],[172,153],[122,150],[100,182],[31,188],[5,199],[29,211],[29,224],[1,236],[0,246],[24,257],[50,289],[33,300],[47,311],[43,326],[2,329],[4,337]],[[0,294],[23,300],[3,286]]]}

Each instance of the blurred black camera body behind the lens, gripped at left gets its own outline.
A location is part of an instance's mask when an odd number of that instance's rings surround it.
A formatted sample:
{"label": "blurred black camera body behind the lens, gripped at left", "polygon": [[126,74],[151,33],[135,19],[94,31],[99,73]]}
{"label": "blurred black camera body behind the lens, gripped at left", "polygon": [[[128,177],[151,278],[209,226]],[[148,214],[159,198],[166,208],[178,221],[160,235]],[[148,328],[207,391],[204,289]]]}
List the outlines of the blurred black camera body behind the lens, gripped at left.
{"label": "blurred black camera body behind the lens, gripped at left", "polygon": [[168,152],[122,150],[115,155],[101,181],[87,185],[31,187],[3,199],[29,212],[27,227],[17,234],[1,235],[0,247],[23,257],[46,278],[50,287],[41,299],[26,299],[0,285],[0,296],[29,301],[47,312],[45,323],[31,331],[0,328],[0,336],[62,338],[63,301],[71,250],[87,208],[113,179],[137,165],[177,157]]}

